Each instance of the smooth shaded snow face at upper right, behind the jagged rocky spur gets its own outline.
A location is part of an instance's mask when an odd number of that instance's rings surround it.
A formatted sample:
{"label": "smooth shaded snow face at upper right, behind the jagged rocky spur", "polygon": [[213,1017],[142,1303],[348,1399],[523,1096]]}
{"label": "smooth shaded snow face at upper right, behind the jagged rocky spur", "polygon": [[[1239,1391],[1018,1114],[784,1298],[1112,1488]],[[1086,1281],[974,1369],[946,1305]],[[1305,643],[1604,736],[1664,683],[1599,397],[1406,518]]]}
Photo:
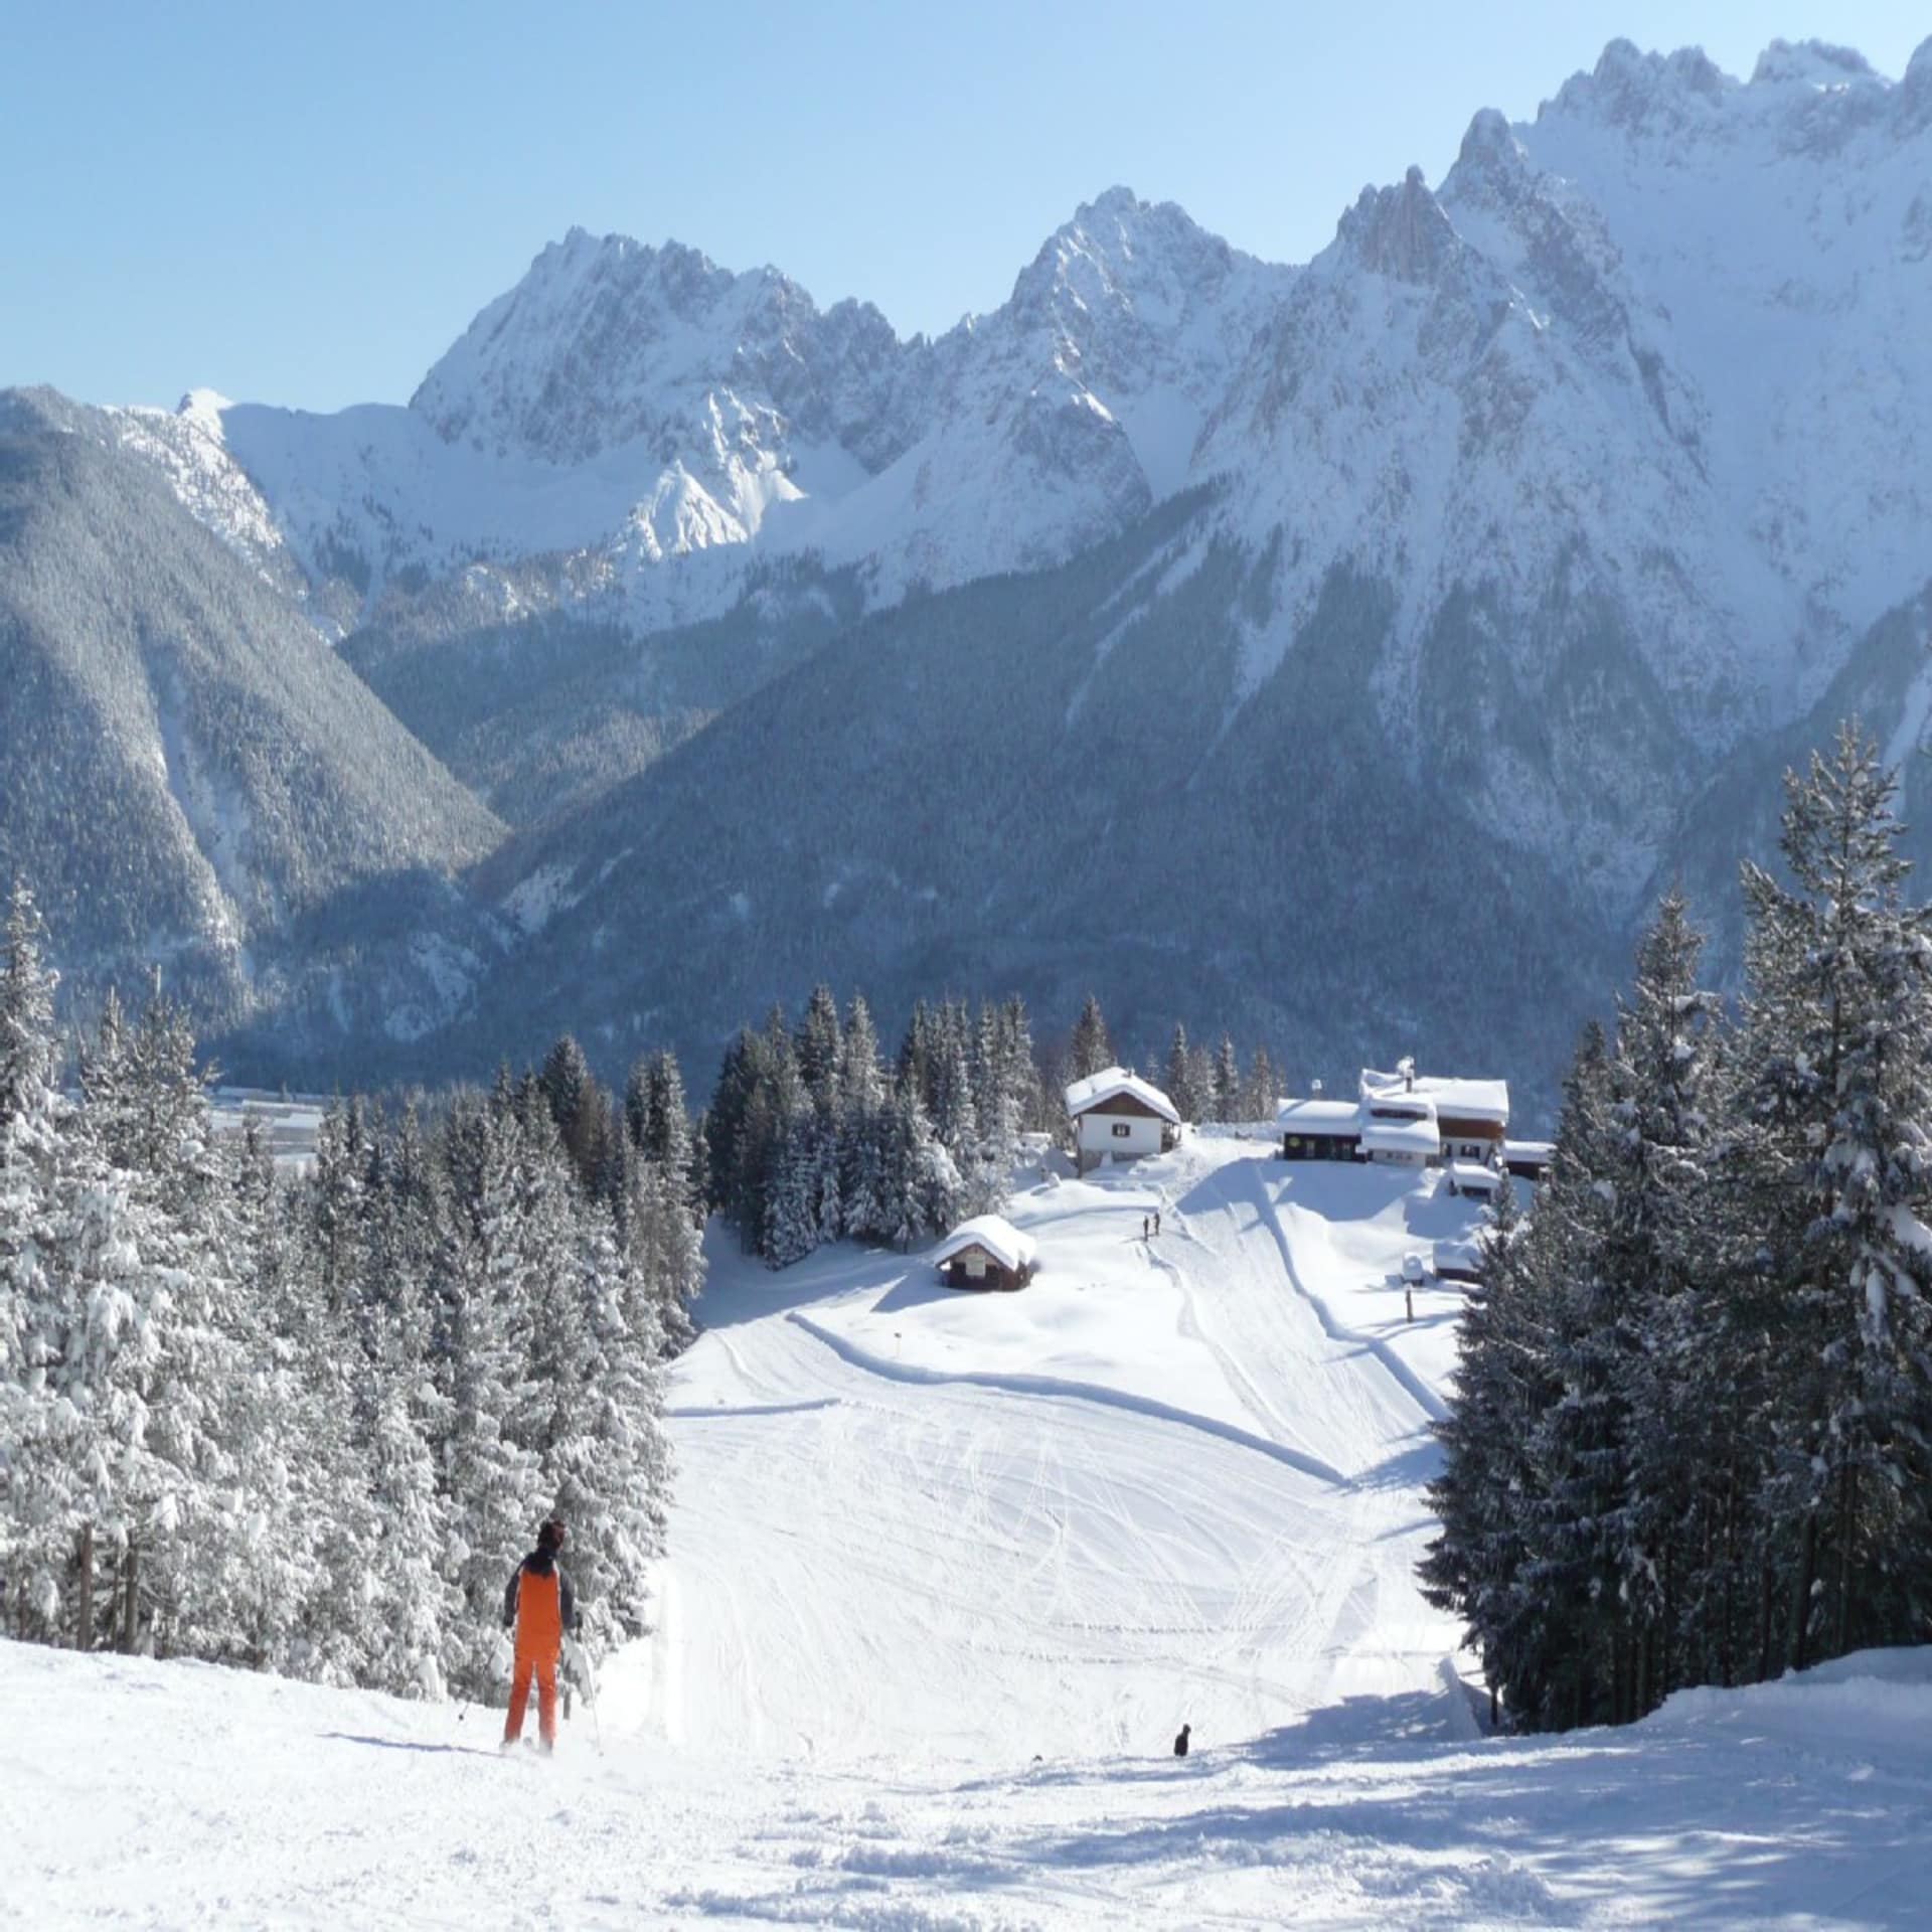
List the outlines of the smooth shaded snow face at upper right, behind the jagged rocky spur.
{"label": "smooth shaded snow face at upper right, behind the jagged rocky spur", "polygon": [[[1747,85],[1615,43],[1517,137],[1621,253],[1696,410],[1683,435],[1789,603],[1814,696],[1847,634],[1926,570],[1932,41],[1901,83],[1774,43]],[[1534,274],[1532,253],[1520,228],[1503,245],[1513,270]]]}

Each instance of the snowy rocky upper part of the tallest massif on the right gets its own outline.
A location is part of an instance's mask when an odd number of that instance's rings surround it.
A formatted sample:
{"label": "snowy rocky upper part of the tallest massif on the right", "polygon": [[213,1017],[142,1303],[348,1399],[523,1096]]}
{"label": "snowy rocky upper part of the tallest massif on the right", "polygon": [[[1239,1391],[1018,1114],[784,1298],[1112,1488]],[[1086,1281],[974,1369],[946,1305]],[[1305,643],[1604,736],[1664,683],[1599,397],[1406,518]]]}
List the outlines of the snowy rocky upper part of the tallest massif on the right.
{"label": "snowy rocky upper part of the tallest massif on the right", "polygon": [[1932,43],[1903,85],[1615,43],[1534,124],[1478,114],[1439,193],[1364,191],[1204,452],[1294,533],[1275,649],[1352,556],[1401,585],[1397,719],[1457,587],[1532,684],[1588,587],[1704,744],[1814,697],[1932,539],[1928,81]]}

